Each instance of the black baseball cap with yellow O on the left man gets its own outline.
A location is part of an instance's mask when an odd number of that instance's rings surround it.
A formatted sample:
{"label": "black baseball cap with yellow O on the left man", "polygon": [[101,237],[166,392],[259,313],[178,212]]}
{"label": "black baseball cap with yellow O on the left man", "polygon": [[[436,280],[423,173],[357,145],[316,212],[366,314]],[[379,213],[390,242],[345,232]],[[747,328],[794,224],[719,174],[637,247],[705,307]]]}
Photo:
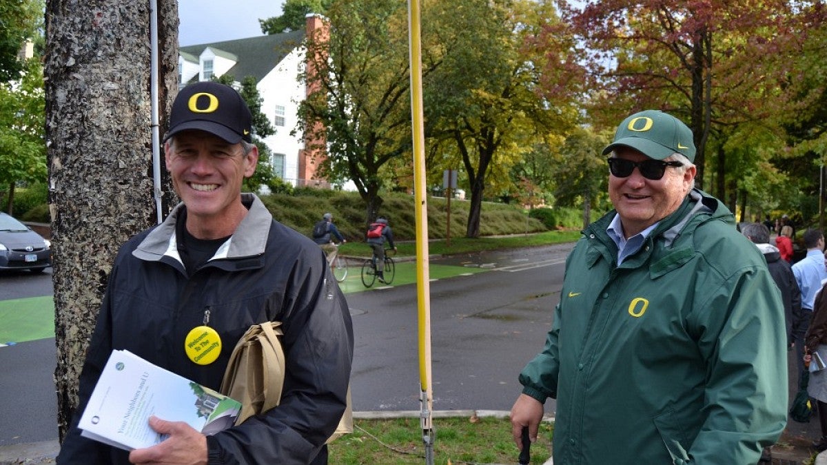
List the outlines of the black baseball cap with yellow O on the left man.
{"label": "black baseball cap with yellow O on the left man", "polygon": [[175,96],[164,141],[181,131],[198,129],[231,144],[252,142],[251,122],[250,108],[236,89],[213,81],[198,82]]}

